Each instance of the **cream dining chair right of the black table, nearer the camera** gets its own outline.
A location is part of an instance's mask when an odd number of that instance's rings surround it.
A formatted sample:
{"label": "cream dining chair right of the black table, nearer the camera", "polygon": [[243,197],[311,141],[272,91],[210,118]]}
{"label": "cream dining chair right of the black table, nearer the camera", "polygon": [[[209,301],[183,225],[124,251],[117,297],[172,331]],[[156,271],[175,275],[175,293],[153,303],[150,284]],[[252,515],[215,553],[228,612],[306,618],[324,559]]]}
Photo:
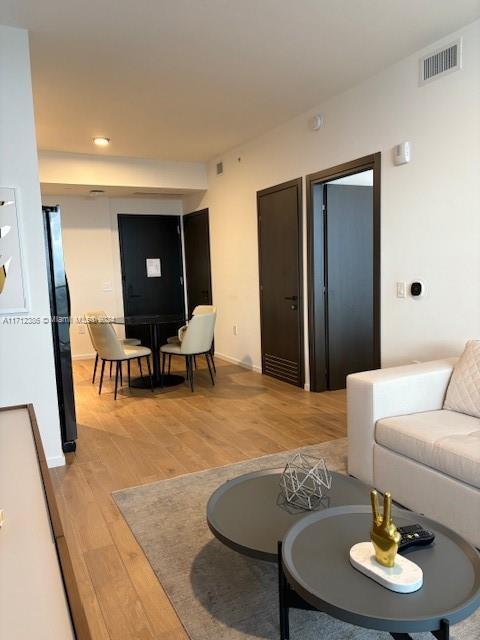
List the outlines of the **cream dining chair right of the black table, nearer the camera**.
{"label": "cream dining chair right of the black table, nearer the camera", "polygon": [[160,347],[162,354],[162,378],[165,375],[166,356],[183,356],[187,367],[187,379],[190,381],[190,388],[193,391],[193,359],[195,356],[204,355],[210,373],[212,385],[215,384],[212,368],[212,343],[213,333],[215,329],[215,320],[217,311],[212,307],[209,313],[200,313],[192,316],[182,337],[182,341],[178,344],[168,343]]}

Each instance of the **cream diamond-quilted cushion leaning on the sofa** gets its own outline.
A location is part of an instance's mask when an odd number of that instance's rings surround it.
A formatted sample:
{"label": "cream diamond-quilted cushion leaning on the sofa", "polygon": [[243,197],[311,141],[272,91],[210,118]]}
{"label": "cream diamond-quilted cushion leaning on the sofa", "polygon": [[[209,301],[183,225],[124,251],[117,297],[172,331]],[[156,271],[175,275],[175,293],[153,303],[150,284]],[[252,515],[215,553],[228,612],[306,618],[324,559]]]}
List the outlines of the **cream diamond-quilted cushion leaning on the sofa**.
{"label": "cream diamond-quilted cushion leaning on the sofa", "polygon": [[480,340],[470,340],[452,373],[444,409],[480,418]]}

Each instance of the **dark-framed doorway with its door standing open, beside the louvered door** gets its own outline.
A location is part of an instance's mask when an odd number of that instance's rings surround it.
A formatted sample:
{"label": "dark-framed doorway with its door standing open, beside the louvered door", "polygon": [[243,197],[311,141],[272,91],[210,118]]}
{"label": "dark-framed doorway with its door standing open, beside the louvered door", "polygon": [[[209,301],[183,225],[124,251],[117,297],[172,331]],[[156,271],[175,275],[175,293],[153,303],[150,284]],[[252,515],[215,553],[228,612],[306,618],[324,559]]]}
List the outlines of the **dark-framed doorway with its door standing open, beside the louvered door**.
{"label": "dark-framed doorway with its door standing open, beside the louvered door", "polygon": [[380,162],[307,176],[311,391],[380,367]]}

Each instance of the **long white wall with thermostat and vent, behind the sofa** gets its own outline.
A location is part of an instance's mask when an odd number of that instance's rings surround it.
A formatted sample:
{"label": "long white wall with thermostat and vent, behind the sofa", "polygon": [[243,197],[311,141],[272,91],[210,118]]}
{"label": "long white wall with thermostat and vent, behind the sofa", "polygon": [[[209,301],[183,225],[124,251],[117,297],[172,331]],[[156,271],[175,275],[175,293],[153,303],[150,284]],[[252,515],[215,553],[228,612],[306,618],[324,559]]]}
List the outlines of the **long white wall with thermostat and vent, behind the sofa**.
{"label": "long white wall with thermostat and vent, behind the sofa", "polygon": [[[185,211],[210,209],[219,353],[260,366],[256,191],[377,151],[383,365],[457,354],[480,337],[480,22],[459,33],[462,71],[419,88],[418,53],[210,163],[207,194]],[[318,112],[325,126],[315,132]],[[403,140],[412,161],[395,167]],[[425,297],[395,297],[397,280],[416,279]]]}

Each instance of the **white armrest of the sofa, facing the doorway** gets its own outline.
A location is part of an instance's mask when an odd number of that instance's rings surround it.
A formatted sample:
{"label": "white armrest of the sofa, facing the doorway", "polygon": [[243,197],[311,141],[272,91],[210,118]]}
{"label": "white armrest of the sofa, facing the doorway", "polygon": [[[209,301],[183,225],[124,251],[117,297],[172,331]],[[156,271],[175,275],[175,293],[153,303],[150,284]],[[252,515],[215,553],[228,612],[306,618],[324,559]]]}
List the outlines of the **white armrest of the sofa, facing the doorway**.
{"label": "white armrest of the sofa, facing the doorway", "polygon": [[373,485],[375,424],[443,406],[456,358],[354,373],[347,377],[348,472]]}

